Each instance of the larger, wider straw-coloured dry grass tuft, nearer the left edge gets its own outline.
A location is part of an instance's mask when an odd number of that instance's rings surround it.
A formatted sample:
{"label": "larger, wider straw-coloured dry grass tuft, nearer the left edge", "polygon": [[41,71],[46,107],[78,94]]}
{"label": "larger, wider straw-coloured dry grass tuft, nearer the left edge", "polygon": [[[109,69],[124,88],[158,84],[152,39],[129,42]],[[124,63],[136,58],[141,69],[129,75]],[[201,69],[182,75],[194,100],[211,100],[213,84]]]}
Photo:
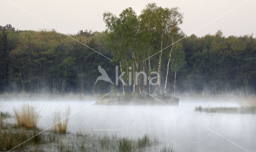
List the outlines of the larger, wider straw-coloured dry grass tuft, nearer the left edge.
{"label": "larger, wider straw-coloured dry grass tuft, nearer the left edge", "polygon": [[31,104],[22,104],[19,107],[13,107],[13,113],[18,126],[35,129],[39,120],[40,110],[40,106]]}

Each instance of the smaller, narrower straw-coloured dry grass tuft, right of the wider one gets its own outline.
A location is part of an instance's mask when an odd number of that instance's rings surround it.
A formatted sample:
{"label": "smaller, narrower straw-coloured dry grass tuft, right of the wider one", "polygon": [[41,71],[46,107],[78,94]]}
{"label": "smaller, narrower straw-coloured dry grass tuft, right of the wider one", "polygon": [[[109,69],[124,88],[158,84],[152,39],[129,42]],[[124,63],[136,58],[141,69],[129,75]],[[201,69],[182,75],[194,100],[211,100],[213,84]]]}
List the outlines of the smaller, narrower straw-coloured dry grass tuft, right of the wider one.
{"label": "smaller, narrower straw-coloured dry grass tuft, right of the wider one", "polygon": [[[52,123],[54,125],[54,132],[65,134],[68,128],[69,115],[71,114],[70,106],[66,107],[65,112],[55,110],[52,113]],[[64,119],[64,120],[63,120]]]}

